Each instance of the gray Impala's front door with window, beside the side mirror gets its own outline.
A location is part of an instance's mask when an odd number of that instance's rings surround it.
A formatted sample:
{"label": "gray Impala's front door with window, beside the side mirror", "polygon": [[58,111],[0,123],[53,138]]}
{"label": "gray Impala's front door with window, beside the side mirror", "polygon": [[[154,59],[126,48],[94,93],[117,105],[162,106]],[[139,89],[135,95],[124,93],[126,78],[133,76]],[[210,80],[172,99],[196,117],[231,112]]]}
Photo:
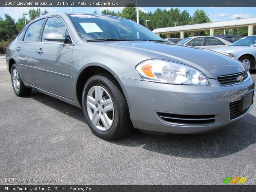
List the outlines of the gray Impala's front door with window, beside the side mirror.
{"label": "gray Impala's front door with window, beside the side mirror", "polygon": [[60,32],[63,37],[71,36],[64,21],[58,17],[48,17],[41,37],[41,42],[36,46],[36,62],[39,70],[37,73],[37,86],[54,94],[68,99],[74,99],[72,85],[73,65],[71,56],[72,42],[47,41],[44,36],[51,32]]}

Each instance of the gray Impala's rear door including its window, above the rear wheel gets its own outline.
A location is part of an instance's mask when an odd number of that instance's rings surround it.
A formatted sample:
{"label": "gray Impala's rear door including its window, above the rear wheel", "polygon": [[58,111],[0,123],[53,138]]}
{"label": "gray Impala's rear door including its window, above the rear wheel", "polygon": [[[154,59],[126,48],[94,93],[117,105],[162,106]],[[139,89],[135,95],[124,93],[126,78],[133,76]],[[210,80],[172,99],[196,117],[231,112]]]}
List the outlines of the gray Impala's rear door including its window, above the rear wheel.
{"label": "gray Impala's rear door including its window, above the rear wheel", "polygon": [[[18,52],[17,62],[23,80],[27,84],[36,84],[36,68],[35,60],[36,47],[45,19],[31,23],[27,30],[24,31],[24,36],[19,36],[16,42],[15,51]],[[22,34],[21,34],[22,35]]]}

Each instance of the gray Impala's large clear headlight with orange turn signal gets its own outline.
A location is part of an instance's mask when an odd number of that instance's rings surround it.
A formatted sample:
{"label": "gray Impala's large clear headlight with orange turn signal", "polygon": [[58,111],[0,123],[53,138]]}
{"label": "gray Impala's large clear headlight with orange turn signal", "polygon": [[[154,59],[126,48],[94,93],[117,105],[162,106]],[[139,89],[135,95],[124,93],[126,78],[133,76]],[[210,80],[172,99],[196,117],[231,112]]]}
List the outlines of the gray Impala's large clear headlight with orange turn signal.
{"label": "gray Impala's large clear headlight with orange turn signal", "polygon": [[145,81],[169,84],[210,84],[201,71],[166,60],[146,60],[137,65],[136,70]]}

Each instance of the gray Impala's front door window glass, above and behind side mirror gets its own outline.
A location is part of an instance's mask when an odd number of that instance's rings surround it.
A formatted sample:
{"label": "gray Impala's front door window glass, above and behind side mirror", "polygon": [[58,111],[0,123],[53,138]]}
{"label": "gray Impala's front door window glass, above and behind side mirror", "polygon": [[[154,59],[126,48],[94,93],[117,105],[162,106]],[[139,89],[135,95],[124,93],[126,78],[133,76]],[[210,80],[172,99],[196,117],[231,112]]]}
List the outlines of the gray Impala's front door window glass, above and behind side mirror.
{"label": "gray Impala's front door window glass, above and behind side mirror", "polygon": [[45,26],[44,26],[42,41],[47,42],[47,40],[44,39],[44,36],[46,34],[52,33],[52,32],[59,32],[63,35],[63,37],[69,35],[65,24],[58,17],[50,17],[47,19]]}

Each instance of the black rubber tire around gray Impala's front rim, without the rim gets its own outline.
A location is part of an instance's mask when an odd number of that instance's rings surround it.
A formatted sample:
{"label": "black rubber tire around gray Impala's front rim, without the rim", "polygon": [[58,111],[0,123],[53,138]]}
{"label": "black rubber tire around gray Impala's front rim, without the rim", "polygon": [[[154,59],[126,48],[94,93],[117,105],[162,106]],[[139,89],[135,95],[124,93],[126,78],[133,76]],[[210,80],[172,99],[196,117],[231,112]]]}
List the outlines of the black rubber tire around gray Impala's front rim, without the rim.
{"label": "black rubber tire around gray Impala's front rim, without the rim", "polygon": [[[88,114],[87,96],[89,91],[93,89],[95,86],[100,86],[104,88],[107,91],[107,94],[110,96],[110,99],[112,100],[112,103],[113,103],[114,110],[113,110],[112,125],[106,131],[102,131],[99,128],[97,128],[92,123],[92,120],[90,119],[90,116]],[[105,92],[103,92],[103,95],[104,93]],[[94,97],[95,97],[95,93],[94,93]],[[96,97],[95,97],[95,101],[96,101]],[[129,116],[128,106],[124,98],[123,92],[121,90],[121,87],[117,83],[114,77],[108,74],[99,74],[99,75],[92,76],[90,79],[88,79],[88,81],[84,85],[82,105],[83,105],[83,111],[84,111],[84,115],[86,117],[87,123],[90,129],[92,130],[92,133],[97,137],[105,140],[116,140],[121,137],[124,137],[125,135],[127,135],[129,132],[132,131],[132,123]],[[102,105],[102,108],[104,109],[103,105]],[[94,112],[92,111],[92,113]],[[102,127],[104,127],[104,125],[102,125]]]}

